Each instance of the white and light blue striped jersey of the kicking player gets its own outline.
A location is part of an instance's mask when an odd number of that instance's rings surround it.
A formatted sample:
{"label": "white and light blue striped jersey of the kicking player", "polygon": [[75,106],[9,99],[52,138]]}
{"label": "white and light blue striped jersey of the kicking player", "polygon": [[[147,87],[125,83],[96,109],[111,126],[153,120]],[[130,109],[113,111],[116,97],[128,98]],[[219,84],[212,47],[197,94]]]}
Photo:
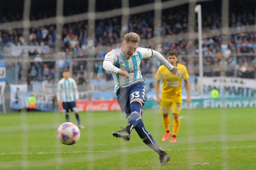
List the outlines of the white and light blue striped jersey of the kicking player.
{"label": "white and light blue striped jersey of the kicking player", "polygon": [[138,47],[132,57],[127,59],[121,52],[121,47],[113,49],[105,55],[105,60],[113,62],[113,65],[121,70],[125,70],[129,73],[129,78],[125,79],[124,76],[120,76],[117,73],[111,73],[115,81],[116,93],[120,86],[127,87],[135,82],[141,80],[142,75],[140,71],[140,63],[143,58],[150,58],[153,55],[152,49]]}

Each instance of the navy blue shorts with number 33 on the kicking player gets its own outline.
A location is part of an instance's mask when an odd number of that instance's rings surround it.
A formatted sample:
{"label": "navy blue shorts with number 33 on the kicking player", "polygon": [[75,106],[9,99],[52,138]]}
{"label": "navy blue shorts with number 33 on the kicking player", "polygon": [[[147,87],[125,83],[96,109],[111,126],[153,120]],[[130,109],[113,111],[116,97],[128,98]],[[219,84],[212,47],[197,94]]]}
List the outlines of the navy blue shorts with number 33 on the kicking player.
{"label": "navy blue shorts with number 33 on the kicking player", "polygon": [[131,114],[130,104],[132,101],[140,100],[143,105],[145,104],[145,93],[145,84],[143,82],[132,84],[129,87],[120,87],[117,90],[117,101],[126,118]]}

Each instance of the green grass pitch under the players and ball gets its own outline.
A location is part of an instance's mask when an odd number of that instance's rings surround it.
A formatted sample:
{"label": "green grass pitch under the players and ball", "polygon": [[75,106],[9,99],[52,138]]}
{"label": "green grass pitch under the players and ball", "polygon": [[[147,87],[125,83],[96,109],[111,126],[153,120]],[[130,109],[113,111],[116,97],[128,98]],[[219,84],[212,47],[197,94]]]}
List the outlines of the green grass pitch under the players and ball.
{"label": "green grass pitch under the players and ball", "polygon": [[[158,155],[135,130],[129,142],[112,136],[112,131],[127,124],[120,111],[80,113],[85,129],[72,146],[56,139],[56,130],[65,120],[60,113],[2,114],[0,169],[256,170],[255,108],[182,110],[180,116],[177,143],[170,143],[161,142],[164,127],[158,111],[143,112],[146,129],[172,157],[159,167]],[[73,114],[70,118],[76,123]]]}

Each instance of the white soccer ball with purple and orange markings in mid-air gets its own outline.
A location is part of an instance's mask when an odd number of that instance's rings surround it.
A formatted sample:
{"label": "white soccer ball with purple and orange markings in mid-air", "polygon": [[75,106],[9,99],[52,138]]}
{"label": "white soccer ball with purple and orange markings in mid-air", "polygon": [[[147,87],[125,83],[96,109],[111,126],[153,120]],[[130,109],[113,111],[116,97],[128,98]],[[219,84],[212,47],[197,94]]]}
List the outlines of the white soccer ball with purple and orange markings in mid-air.
{"label": "white soccer ball with purple and orange markings in mid-air", "polygon": [[64,145],[73,145],[80,138],[80,129],[71,122],[63,123],[58,128],[57,138]]}

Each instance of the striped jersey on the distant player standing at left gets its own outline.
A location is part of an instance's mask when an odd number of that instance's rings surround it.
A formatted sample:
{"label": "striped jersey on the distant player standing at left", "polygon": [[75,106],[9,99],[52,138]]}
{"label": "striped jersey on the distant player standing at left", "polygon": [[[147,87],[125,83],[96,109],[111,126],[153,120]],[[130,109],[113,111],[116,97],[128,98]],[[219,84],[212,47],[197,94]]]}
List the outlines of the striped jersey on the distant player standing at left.
{"label": "striped jersey on the distant player standing at left", "polygon": [[73,78],[62,78],[57,86],[57,100],[62,102],[74,102],[78,99],[77,84]]}

